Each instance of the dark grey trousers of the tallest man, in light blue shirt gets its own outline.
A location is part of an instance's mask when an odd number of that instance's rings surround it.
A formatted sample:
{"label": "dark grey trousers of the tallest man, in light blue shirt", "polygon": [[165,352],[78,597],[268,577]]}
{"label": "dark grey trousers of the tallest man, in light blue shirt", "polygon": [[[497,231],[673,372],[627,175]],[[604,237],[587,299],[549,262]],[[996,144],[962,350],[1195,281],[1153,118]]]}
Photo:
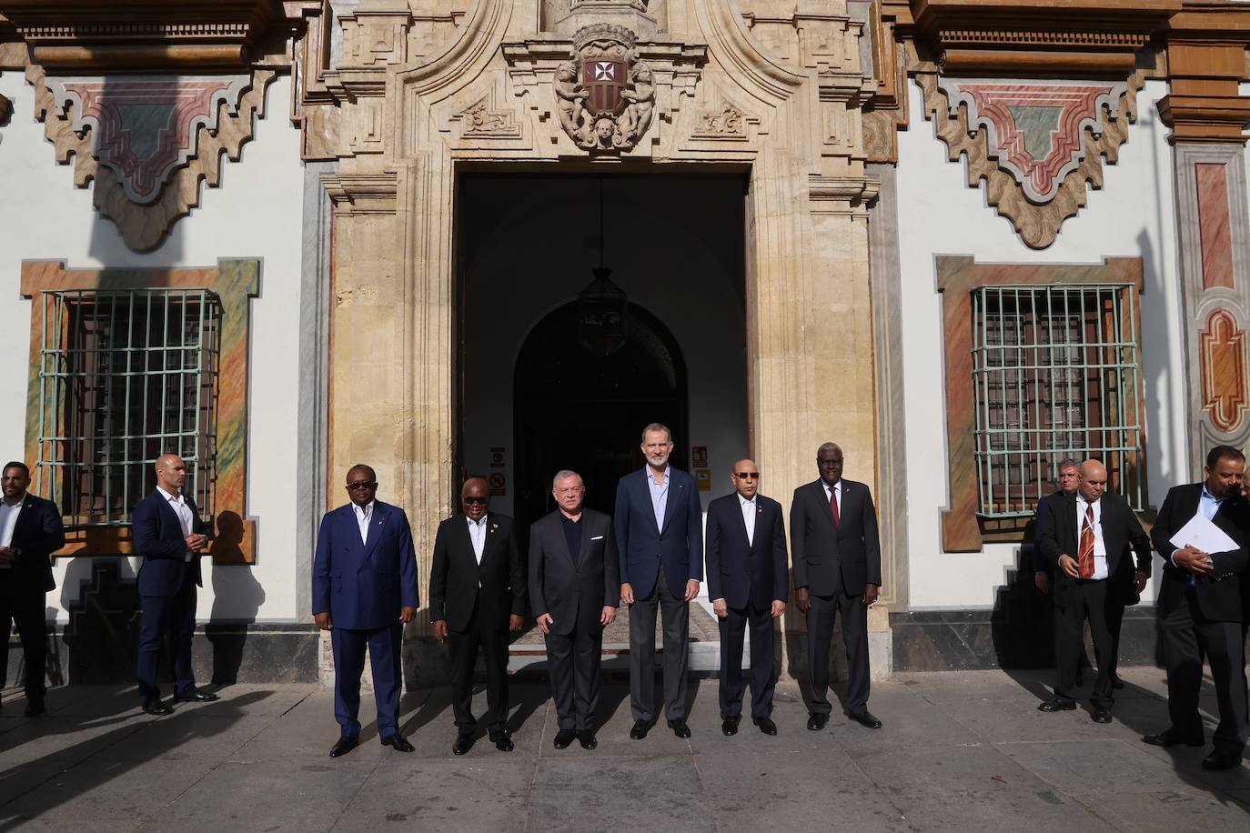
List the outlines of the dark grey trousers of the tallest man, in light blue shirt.
{"label": "dark grey trousers of the tallest man, in light blue shirt", "polygon": [[[685,591],[685,588],[681,588]],[[646,598],[634,598],[629,608],[630,712],[635,721],[655,719],[655,614],[664,616],[664,716],[686,717],[686,647],[690,639],[690,603],[672,598],[664,567]]]}

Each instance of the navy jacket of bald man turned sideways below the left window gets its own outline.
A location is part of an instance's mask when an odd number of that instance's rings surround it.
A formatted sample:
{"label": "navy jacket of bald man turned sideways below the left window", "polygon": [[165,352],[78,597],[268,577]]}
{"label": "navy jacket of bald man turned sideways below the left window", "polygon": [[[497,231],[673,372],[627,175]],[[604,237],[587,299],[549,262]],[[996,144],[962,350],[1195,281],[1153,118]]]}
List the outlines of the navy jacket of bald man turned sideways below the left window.
{"label": "navy jacket of bald man turned sideways below the left window", "polygon": [[[191,532],[204,535],[204,521],[195,508],[190,496],[182,498],[191,508]],[[139,501],[131,520],[130,533],[134,537],[135,552],[144,557],[139,567],[140,596],[176,596],[182,587],[186,571],[191,572],[195,583],[204,587],[200,574],[200,553],[191,553],[186,561],[186,537],[178,512],[169,505],[169,498],[161,490]]]}

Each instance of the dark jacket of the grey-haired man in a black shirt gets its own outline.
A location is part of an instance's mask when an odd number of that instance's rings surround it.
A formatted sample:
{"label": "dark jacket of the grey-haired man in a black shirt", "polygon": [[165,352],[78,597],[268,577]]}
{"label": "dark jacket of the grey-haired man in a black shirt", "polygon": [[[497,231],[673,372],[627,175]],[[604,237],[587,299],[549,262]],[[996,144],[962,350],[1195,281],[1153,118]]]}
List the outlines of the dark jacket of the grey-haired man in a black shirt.
{"label": "dark jacket of the grey-haired man in a black shirt", "polygon": [[551,632],[566,636],[574,627],[601,633],[599,617],[621,601],[620,561],[612,520],[594,510],[581,511],[581,548],[574,566],[560,510],[530,527],[530,608],[551,614]]}

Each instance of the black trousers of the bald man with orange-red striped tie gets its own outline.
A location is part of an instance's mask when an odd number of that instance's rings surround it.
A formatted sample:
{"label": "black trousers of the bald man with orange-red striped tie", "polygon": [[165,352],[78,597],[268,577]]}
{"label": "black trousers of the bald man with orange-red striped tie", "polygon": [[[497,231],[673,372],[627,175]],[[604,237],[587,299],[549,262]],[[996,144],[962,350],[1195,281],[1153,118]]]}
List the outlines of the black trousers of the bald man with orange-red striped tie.
{"label": "black trousers of the bald man with orange-red striped tie", "polygon": [[1094,659],[1098,676],[1090,693],[1090,706],[1111,708],[1112,682],[1115,681],[1116,646],[1120,642],[1120,622],[1124,621],[1124,603],[1116,598],[1108,579],[1078,579],[1069,587],[1062,602],[1055,596],[1055,698],[1075,702],[1076,673],[1085,653],[1085,621],[1090,623],[1094,639]]}

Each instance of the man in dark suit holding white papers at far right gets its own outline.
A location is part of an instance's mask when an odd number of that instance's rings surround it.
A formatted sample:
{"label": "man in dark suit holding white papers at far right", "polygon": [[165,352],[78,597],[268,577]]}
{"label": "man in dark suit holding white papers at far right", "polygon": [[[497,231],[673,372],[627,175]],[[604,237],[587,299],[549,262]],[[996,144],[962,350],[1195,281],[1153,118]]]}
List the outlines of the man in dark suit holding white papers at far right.
{"label": "man in dark suit holding white papers at far right", "polygon": [[[1150,538],[1164,558],[1159,588],[1159,624],[1168,666],[1168,714],[1171,726],[1142,741],[1170,747],[1205,743],[1198,713],[1202,686],[1202,657],[1211,666],[1220,724],[1215,751],[1202,759],[1204,769],[1231,769],[1241,763],[1246,743],[1245,644],[1241,632],[1241,582],[1246,569],[1246,531],[1250,511],[1240,498],[1245,455],[1231,446],[1216,446],[1206,455],[1206,481],[1175,486],[1159,508]],[[1178,532],[1198,515],[1231,538],[1222,552],[1202,552],[1180,541]]]}

